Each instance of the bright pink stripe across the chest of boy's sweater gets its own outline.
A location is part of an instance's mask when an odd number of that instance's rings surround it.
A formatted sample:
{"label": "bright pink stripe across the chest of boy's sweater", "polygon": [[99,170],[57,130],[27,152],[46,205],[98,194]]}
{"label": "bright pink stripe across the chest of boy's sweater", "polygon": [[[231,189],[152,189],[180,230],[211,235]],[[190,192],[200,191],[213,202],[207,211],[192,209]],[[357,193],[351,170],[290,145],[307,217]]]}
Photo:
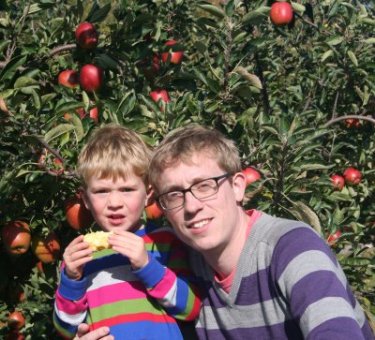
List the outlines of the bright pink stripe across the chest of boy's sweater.
{"label": "bright pink stripe across the chest of boy's sweater", "polygon": [[141,282],[121,282],[87,292],[90,308],[120,300],[144,299],[146,291]]}

